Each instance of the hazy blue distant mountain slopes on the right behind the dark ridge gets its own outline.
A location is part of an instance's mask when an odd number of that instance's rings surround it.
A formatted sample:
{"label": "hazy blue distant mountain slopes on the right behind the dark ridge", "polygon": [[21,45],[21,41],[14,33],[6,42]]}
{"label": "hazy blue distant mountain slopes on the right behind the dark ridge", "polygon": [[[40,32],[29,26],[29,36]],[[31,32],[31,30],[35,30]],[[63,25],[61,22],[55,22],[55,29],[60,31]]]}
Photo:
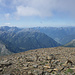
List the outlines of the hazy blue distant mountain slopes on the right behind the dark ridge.
{"label": "hazy blue distant mountain slopes on the right behind the dark ridge", "polygon": [[36,27],[34,29],[45,33],[63,45],[75,39],[75,27]]}

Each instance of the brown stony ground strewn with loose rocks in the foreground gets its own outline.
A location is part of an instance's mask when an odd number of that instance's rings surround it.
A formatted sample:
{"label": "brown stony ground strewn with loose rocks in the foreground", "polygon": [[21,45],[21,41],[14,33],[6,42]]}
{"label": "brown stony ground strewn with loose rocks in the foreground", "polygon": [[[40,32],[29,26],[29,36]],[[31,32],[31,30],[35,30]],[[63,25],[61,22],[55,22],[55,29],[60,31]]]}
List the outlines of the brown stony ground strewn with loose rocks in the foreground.
{"label": "brown stony ground strewn with loose rocks in the foreground", "polygon": [[75,75],[75,48],[43,48],[0,57],[0,75]]}

